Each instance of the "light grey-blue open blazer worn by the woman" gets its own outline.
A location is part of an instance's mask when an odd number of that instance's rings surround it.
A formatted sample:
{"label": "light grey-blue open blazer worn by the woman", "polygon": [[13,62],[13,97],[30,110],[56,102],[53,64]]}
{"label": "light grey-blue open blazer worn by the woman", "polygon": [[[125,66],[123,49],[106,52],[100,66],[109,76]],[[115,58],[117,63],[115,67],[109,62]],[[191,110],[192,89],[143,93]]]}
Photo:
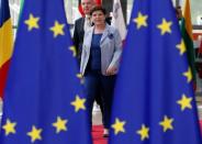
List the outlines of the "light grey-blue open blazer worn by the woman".
{"label": "light grey-blue open blazer worn by the woman", "polygon": [[[93,30],[94,26],[92,26],[85,33],[81,63],[80,63],[80,73],[82,74],[82,76],[85,75],[87,64],[90,57]],[[122,40],[119,31],[115,27],[106,24],[100,41],[100,47],[101,47],[101,73],[102,75],[106,76],[106,69],[109,67],[116,67],[116,69],[119,69],[120,66],[120,58],[122,54]]]}

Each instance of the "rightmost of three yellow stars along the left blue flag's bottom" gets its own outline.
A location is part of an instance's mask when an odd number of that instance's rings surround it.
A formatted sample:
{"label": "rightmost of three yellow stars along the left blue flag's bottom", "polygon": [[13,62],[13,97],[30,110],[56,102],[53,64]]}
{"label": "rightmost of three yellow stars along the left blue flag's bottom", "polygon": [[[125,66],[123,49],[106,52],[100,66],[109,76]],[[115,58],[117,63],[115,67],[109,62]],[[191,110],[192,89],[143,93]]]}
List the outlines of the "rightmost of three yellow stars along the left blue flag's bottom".
{"label": "rightmost of three yellow stars along the left blue flag's bottom", "polygon": [[53,123],[53,126],[56,128],[56,133],[59,133],[60,131],[67,131],[66,123],[67,120],[63,120],[60,117],[57,117],[57,121]]}

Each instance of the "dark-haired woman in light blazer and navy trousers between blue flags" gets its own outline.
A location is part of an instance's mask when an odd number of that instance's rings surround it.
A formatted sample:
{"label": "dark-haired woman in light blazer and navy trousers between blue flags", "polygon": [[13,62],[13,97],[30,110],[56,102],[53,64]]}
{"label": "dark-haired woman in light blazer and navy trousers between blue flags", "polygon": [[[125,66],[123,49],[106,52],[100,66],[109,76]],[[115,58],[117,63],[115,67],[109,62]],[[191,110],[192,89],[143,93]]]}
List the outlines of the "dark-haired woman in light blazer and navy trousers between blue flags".
{"label": "dark-haired woman in light blazer and navy trousers between blue flags", "polygon": [[85,33],[80,73],[85,77],[90,124],[94,96],[99,89],[102,91],[103,136],[109,136],[112,97],[122,41],[117,30],[105,23],[105,10],[102,7],[94,7],[90,15],[94,25]]}

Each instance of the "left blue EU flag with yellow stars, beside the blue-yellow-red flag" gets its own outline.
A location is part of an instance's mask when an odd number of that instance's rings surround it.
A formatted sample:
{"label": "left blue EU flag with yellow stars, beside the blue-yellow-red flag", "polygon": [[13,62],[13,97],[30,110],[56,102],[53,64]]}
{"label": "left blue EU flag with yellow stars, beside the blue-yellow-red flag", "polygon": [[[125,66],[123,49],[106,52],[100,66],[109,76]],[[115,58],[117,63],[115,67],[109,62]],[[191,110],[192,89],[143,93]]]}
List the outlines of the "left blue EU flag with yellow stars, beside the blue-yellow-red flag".
{"label": "left blue EU flag with yellow stars, beside the blue-yellow-red flag", "polygon": [[91,144],[64,1],[25,1],[21,16],[0,144]]}

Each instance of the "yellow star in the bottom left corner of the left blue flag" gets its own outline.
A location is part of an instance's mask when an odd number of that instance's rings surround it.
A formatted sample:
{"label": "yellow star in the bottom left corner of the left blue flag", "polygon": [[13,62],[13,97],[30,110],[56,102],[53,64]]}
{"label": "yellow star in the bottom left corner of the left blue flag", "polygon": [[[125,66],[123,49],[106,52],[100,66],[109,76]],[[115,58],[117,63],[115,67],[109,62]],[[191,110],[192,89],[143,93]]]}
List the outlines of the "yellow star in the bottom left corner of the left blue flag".
{"label": "yellow star in the bottom left corner of the left blue flag", "polygon": [[9,134],[15,134],[15,122],[11,122],[9,119],[7,119],[7,123],[2,126],[2,129],[5,131],[5,135]]}

